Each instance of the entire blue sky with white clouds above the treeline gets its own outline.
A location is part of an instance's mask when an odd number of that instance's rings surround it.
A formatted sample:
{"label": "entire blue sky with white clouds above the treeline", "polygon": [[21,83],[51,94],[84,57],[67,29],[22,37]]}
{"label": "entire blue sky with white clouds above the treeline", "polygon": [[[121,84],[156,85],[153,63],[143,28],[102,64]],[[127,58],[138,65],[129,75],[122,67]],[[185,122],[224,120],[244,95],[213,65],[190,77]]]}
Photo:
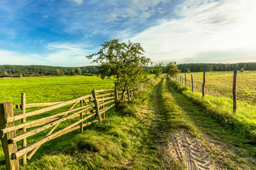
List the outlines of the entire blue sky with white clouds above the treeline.
{"label": "entire blue sky with white clouds above the treeline", "polygon": [[153,63],[256,62],[255,0],[0,0],[0,65],[88,66],[139,42]]}

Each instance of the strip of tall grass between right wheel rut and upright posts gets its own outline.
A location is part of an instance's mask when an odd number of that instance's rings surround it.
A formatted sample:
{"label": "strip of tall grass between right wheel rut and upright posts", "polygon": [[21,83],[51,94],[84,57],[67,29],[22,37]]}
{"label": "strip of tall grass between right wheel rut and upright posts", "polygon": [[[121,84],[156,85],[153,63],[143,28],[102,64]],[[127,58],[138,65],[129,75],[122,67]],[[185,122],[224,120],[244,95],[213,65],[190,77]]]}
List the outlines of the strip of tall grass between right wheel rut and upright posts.
{"label": "strip of tall grass between right wheel rut and upright posts", "polygon": [[180,82],[171,79],[170,83],[189,99],[193,100],[194,103],[203,107],[210,116],[220,121],[223,126],[242,134],[251,140],[249,143],[256,145],[255,105],[245,101],[237,101],[237,113],[233,113],[233,100],[229,97],[205,95],[203,99],[201,92],[195,90],[192,93],[190,86],[187,86],[188,90],[184,91],[184,86]]}

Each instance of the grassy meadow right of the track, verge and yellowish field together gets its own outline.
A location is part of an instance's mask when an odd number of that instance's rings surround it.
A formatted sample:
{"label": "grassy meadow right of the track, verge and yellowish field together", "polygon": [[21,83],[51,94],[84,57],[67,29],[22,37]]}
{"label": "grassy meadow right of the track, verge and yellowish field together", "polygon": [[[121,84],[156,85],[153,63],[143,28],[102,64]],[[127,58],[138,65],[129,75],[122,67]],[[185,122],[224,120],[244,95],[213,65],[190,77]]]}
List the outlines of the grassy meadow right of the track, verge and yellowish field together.
{"label": "grassy meadow right of the track, verge and yellowish field together", "polygon": [[[218,88],[224,88],[224,95],[216,96],[212,94],[205,94],[203,99],[202,92],[195,88],[192,93],[192,87],[187,85],[185,87],[180,82],[172,79],[172,85],[178,88],[183,95],[191,99],[195,104],[200,105],[204,110],[213,118],[220,121],[222,125],[233,129],[236,133],[242,134],[244,137],[249,139],[249,143],[255,145],[256,141],[256,105],[254,101],[256,84],[253,80],[255,73],[238,73],[239,86],[237,92],[237,113],[233,113],[233,100],[232,94],[232,73],[206,73],[205,87],[209,91],[214,91]],[[193,73],[194,82],[196,85],[201,84],[203,79],[203,73]],[[246,81],[251,78],[250,81]],[[216,80],[217,79],[217,80]],[[191,82],[191,81],[190,81]],[[247,82],[247,83],[246,83]],[[248,85],[250,84],[250,86]],[[247,91],[247,94],[243,94],[242,91]],[[243,99],[243,100],[242,100]],[[255,154],[255,153],[254,153]]]}

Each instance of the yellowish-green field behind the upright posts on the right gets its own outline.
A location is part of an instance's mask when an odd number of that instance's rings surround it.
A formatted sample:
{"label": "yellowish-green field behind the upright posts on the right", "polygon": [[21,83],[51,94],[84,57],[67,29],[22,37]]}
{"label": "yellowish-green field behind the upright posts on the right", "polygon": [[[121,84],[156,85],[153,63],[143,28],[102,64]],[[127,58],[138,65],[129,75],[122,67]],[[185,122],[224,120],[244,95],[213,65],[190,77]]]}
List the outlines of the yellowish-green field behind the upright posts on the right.
{"label": "yellowish-green field behind the upright posts on the right", "polygon": [[[202,86],[203,72],[187,73],[187,82],[191,83],[191,74],[193,74],[194,84]],[[205,88],[219,95],[232,98],[233,72],[207,72]],[[184,74],[182,74],[184,75]],[[184,78],[184,76],[183,76]],[[247,101],[250,104],[256,104],[256,72],[245,71],[238,72],[237,75],[237,100]]]}

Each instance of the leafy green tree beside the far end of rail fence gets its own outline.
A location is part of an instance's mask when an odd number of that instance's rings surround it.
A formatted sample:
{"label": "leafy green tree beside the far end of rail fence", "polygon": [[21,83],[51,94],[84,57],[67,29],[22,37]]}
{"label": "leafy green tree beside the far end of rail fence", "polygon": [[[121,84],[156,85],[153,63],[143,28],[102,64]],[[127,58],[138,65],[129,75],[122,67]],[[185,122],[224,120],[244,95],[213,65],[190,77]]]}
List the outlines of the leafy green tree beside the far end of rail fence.
{"label": "leafy green tree beside the far end of rail fence", "polygon": [[102,79],[114,79],[117,87],[123,88],[123,95],[127,89],[135,88],[147,79],[143,67],[150,63],[150,58],[144,57],[141,44],[130,40],[128,44],[119,43],[118,39],[113,39],[101,45],[98,53],[85,57],[98,56],[93,60],[100,65],[98,74]]}

